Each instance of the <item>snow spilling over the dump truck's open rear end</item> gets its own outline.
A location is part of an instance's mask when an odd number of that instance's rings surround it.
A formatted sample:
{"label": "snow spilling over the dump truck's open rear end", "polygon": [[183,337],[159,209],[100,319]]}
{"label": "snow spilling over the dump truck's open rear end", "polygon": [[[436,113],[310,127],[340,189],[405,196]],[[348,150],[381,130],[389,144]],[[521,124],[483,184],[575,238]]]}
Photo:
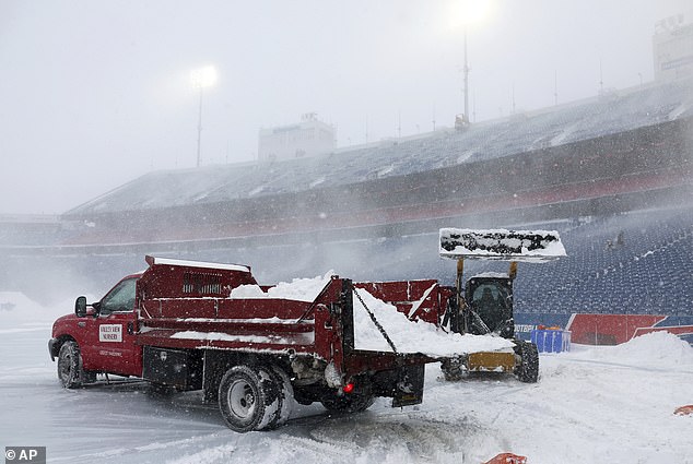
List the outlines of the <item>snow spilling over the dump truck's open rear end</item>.
{"label": "snow spilling over the dump truck's open rear end", "polygon": [[[375,298],[362,288],[357,292],[400,353],[423,353],[444,357],[513,349],[512,342],[498,336],[445,333],[433,324],[412,322],[397,311],[395,306]],[[392,350],[355,295],[354,347],[377,352]]]}

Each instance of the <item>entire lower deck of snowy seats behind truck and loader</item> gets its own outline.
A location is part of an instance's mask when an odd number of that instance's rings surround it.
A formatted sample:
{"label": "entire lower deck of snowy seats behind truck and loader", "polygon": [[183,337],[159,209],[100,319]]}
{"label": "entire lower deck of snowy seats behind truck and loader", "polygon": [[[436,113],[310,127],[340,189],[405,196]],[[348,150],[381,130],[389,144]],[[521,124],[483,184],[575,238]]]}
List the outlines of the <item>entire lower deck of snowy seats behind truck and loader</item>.
{"label": "entire lower deck of snowy seats behind truck and loader", "polygon": [[[693,207],[646,210],[509,228],[561,233],[567,257],[520,263],[515,283],[519,313],[574,312],[693,316]],[[437,278],[454,285],[455,262],[441,260],[438,236],[344,240],[238,248],[189,258],[252,263],[261,281],[334,270],[356,281]],[[181,257],[180,254],[177,254]],[[278,257],[282,265],[277,266]],[[185,258],[185,257],[181,257]],[[467,277],[507,272],[506,262],[467,260]]]}

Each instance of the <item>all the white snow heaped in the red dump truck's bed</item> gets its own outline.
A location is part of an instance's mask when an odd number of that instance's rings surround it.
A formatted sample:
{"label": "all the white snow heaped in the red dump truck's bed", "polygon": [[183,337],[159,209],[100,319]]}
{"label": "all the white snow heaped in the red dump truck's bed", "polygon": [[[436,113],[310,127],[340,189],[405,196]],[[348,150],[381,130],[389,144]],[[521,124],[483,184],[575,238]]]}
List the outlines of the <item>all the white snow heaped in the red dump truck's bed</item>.
{"label": "all the white snow heaped in the red dump truck's bed", "polygon": [[[333,271],[315,278],[294,278],[282,282],[266,292],[258,285],[242,285],[231,292],[230,298],[281,298],[298,301],[314,301],[330,282]],[[446,357],[479,352],[512,350],[513,343],[496,336],[460,335],[445,333],[427,322],[412,322],[390,304],[375,298],[363,288],[359,295],[375,314],[388,336],[400,353],[422,353],[432,357]],[[392,349],[375,326],[366,309],[354,296],[354,348],[376,352]]]}

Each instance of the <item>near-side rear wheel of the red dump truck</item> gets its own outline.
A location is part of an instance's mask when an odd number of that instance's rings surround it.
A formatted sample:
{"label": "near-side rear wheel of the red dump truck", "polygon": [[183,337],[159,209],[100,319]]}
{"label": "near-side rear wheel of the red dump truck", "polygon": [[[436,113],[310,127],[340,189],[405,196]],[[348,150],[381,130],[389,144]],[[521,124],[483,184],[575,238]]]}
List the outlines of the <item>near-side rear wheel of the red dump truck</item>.
{"label": "near-side rear wheel of the red dump truck", "polygon": [[271,427],[279,415],[279,385],[267,369],[235,366],[219,384],[219,409],[234,431],[245,433]]}

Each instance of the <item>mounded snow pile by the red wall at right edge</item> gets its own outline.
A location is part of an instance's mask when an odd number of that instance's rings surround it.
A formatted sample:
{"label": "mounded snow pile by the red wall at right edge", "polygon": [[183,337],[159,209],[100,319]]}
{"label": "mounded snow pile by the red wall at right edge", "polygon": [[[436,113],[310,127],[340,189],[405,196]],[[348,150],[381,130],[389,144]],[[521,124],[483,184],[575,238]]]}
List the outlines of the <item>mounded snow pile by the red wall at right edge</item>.
{"label": "mounded snow pile by the red wall at right edge", "polygon": [[621,345],[599,349],[590,356],[603,361],[643,367],[693,366],[693,346],[663,331],[636,336]]}

